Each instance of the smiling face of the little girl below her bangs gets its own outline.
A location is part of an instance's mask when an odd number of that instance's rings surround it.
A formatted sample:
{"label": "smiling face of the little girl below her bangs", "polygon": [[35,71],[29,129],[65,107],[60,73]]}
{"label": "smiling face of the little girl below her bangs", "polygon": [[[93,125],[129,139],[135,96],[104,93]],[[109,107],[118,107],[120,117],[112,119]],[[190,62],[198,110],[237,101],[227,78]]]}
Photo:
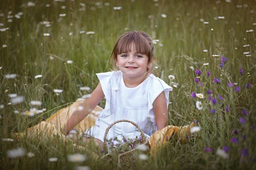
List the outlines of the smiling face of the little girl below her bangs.
{"label": "smiling face of the little girl below her bangs", "polygon": [[117,55],[117,67],[122,71],[125,78],[144,79],[147,74],[147,68],[150,66],[148,56],[135,51],[131,44],[131,51]]}

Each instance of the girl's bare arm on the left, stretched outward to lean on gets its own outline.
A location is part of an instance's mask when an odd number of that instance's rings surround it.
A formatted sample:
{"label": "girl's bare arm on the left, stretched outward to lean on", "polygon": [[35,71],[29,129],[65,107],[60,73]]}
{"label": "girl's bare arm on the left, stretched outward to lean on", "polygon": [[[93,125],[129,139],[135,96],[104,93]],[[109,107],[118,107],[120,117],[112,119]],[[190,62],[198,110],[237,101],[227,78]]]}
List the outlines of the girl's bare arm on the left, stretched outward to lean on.
{"label": "girl's bare arm on the left, stretched outward to lean on", "polygon": [[66,135],[100,103],[104,96],[101,83],[99,83],[96,89],[91,93],[91,96],[79,104],[79,106],[83,107],[83,110],[74,111],[72,113],[69,120],[64,125],[62,132]]}

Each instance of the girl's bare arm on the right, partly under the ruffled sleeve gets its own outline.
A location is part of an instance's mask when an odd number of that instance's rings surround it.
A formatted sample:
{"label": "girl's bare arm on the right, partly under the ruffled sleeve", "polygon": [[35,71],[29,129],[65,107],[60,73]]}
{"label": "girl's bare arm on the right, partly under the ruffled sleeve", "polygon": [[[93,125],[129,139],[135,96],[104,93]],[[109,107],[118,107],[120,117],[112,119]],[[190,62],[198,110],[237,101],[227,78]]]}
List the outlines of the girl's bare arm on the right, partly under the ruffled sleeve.
{"label": "girl's bare arm on the right, partly under the ruffled sleeve", "polygon": [[166,126],[166,121],[168,119],[168,110],[164,92],[161,92],[154,100],[153,111],[157,129],[160,130]]}

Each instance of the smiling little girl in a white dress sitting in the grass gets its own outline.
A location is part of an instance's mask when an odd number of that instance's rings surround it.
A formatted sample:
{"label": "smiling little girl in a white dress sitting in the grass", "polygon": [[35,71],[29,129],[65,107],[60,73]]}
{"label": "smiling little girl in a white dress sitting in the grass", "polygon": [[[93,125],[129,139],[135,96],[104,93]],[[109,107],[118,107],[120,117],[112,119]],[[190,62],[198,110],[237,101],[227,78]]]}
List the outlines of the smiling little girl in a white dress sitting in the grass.
{"label": "smiling little girl in a white dress sitting in the grass", "polygon": [[[100,83],[84,100],[81,111],[74,111],[62,129],[66,135],[82,121],[105,97],[105,109],[99,114],[95,126],[84,132],[84,142],[90,137],[103,147],[106,128],[114,121],[127,119],[135,122],[148,138],[166,125],[168,98],[172,87],[151,74],[154,63],[152,39],[144,32],[133,31],[122,35],[111,54],[115,71],[98,73]],[[119,68],[119,71],[117,70]],[[135,138],[140,132],[127,122],[110,128],[107,139]]]}

